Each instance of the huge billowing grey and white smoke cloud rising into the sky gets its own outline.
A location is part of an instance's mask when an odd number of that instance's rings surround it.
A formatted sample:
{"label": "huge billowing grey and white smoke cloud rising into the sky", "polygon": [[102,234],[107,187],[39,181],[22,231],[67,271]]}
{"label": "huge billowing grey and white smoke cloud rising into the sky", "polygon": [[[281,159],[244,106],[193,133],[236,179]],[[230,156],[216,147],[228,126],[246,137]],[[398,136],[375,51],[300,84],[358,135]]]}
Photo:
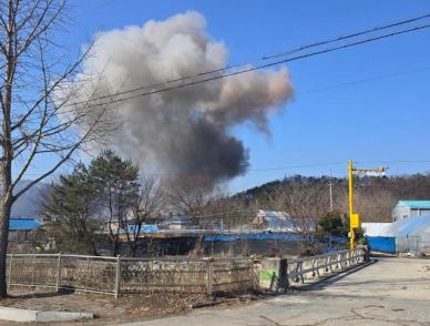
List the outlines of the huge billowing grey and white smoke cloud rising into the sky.
{"label": "huge billowing grey and white smoke cloud rising into the sky", "polygon": [[[227,62],[227,48],[206,32],[202,14],[190,11],[99,33],[74,82],[85,89],[89,80],[94,83],[103,75],[100,95],[212,71]],[[109,142],[145,169],[204,175],[215,184],[248,166],[248,152],[232,128],[253,122],[269,133],[268,113],[293,93],[288,71],[281,68],[139,96],[112,104],[115,113],[110,119],[119,128]]]}

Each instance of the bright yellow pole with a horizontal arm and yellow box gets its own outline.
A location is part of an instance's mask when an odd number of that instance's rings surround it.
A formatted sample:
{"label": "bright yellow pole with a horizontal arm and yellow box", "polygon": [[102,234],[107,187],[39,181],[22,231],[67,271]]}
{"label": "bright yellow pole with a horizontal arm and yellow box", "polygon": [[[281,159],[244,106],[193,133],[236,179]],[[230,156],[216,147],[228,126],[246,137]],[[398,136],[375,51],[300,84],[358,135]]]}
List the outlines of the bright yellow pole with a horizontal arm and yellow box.
{"label": "bright yellow pole with a horizontal arm and yellow box", "polygon": [[356,230],[361,227],[360,216],[354,213],[354,174],[383,175],[388,167],[356,169],[352,161],[348,161],[348,200],[349,200],[349,244],[350,248],[356,247]]}

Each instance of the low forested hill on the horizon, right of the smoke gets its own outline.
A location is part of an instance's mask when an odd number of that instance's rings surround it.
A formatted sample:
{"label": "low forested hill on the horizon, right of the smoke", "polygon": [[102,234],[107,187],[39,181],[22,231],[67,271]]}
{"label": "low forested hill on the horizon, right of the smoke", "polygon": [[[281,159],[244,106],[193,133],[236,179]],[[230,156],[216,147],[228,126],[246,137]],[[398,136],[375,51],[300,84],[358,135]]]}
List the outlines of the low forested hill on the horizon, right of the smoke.
{"label": "low forested hill on the horizon, right of the smoke", "polygon": [[[347,180],[332,179],[331,183],[335,210],[346,213],[348,208]],[[328,176],[288,176],[252,187],[236,194],[235,197],[256,202],[260,207],[276,208],[273,207],[274,197],[294,193],[297,184],[304,185],[308,193],[311,190],[313,196],[319,197],[319,201],[314,201],[314,204],[328,203],[330,184]],[[366,176],[355,180],[355,205],[364,221],[390,221],[391,207],[399,200],[430,200],[430,173],[385,177]]]}

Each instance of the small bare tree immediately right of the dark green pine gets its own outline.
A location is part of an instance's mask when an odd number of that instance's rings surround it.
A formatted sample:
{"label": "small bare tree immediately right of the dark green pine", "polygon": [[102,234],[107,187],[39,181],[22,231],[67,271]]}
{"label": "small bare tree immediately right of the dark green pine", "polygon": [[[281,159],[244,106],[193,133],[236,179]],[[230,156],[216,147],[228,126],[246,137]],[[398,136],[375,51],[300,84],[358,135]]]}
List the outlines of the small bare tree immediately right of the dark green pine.
{"label": "small bare tree immediately right of the dark green pine", "polygon": [[122,221],[131,255],[136,255],[142,226],[150,217],[160,214],[164,204],[162,182],[155,175],[143,174],[140,180],[139,198],[132,207],[131,218]]}

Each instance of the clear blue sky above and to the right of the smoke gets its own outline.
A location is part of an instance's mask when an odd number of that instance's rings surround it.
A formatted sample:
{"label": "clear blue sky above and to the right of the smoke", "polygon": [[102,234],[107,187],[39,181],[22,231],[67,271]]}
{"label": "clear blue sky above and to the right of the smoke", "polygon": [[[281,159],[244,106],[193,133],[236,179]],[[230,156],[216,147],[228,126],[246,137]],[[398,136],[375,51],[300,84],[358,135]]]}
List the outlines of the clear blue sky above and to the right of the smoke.
{"label": "clear blue sky above and to the right of the smoke", "polygon": [[[423,0],[74,0],[73,6],[74,24],[64,37],[71,53],[98,31],[196,10],[208,33],[229,49],[231,63],[430,12]],[[285,175],[345,176],[348,160],[362,162],[360,167],[387,165],[390,174],[430,171],[429,40],[430,29],[286,64],[296,94],[270,116],[270,135],[249,124],[232,131],[249,150],[250,167],[229,182],[231,191]]]}

